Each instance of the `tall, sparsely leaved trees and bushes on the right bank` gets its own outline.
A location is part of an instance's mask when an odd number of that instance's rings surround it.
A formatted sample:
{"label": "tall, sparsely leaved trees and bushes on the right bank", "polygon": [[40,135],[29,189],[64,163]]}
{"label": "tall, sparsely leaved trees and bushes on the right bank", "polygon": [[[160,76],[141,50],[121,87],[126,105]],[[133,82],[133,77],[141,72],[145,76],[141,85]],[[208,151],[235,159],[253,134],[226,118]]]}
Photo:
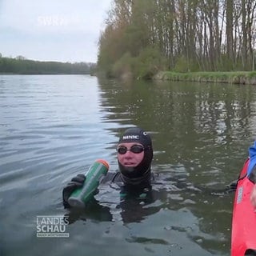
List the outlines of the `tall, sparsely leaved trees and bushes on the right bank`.
{"label": "tall, sparsely leaved trees and bushes on the right bank", "polygon": [[255,70],[256,0],[113,0],[98,42],[98,70],[151,77],[158,70]]}

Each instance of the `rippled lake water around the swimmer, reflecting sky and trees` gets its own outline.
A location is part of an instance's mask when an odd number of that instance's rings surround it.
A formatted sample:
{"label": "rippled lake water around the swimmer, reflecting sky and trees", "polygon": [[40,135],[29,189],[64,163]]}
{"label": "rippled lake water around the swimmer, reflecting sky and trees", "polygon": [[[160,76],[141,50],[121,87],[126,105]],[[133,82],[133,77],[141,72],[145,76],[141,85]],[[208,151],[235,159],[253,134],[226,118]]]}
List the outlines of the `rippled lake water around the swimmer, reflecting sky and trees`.
{"label": "rippled lake water around the swimmer, reflecting sky and trees", "polygon": [[[229,255],[234,194],[210,191],[238,177],[255,102],[254,86],[0,75],[0,255]],[[118,169],[130,126],[153,140],[154,199],[102,185],[82,214],[65,210],[70,178],[98,158]],[[68,216],[69,237],[38,238],[46,215]]]}

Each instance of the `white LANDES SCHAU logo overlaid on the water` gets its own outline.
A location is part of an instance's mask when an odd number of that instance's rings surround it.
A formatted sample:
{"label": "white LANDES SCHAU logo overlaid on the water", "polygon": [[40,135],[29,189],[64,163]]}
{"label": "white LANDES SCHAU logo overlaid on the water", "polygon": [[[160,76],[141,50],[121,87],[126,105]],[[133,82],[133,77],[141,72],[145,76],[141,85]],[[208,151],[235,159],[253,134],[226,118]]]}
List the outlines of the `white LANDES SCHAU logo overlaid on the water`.
{"label": "white LANDES SCHAU logo overlaid on the water", "polygon": [[41,215],[37,216],[38,238],[68,238],[66,226],[69,224],[67,216]]}

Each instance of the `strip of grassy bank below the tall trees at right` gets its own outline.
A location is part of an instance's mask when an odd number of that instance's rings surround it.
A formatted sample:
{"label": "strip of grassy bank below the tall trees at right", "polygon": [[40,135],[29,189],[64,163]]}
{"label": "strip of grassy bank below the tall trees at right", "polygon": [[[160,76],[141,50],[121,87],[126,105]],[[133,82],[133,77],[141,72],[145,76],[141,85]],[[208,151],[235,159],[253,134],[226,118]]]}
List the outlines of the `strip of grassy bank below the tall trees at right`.
{"label": "strip of grassy bank below the tall trees at right", "polygon": [[190,81],[190,82],[223,82],[230,84],[250,84],[256,85],[256,71],[250,72],[189,72],[176,73],[162,71],[154,76],[153,79]]}

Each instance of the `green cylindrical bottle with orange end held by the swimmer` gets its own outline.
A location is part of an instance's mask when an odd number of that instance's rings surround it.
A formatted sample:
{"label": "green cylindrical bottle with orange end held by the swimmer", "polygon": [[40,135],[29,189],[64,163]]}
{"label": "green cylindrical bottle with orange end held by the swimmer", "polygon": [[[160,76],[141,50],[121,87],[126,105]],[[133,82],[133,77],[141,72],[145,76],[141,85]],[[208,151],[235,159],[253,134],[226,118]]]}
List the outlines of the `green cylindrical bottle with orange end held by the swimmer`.
{"label": "green cylindrical bottle with orange end held by the swimmer", "polygon": [[109,170],[109,164],[98,159],[90,166],[89,170],[86,172],[86,181],[84,182],[82,188],[74,190],[68,199],[68,203],[72,207],[84,208],[86,202],[90,201],[94,196],[94,191],[98,188],[99,182],[104,178],[107,171]]}

